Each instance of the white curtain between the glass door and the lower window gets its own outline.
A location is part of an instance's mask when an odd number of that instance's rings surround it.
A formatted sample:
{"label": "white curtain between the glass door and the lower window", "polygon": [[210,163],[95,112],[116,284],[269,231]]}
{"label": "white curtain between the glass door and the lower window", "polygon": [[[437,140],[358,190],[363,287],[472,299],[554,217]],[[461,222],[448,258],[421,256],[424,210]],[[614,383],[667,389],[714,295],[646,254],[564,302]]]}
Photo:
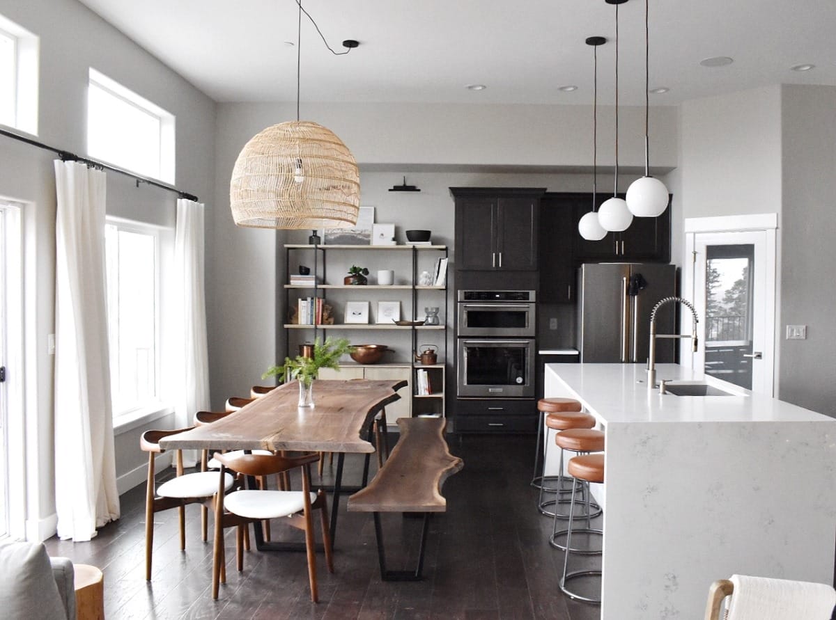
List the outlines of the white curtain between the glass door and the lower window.
{"label": "white curtain between the glass door and the lower window", "polygon": [[119,518],[104,280],[105,175],[55,161],[55,507],[62,539]]}

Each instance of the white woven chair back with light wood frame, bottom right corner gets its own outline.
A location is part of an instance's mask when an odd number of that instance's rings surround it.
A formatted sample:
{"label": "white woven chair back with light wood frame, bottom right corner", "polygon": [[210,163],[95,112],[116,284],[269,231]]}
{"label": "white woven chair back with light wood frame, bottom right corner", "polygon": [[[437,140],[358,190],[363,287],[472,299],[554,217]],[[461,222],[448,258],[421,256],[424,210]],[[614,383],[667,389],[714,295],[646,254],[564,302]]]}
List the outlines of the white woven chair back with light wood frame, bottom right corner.
{"label": "white woven chair back with light wood frame, bottom right corner", "polygon": [[732,575],[711,584],[706,620],[829,620],[836,605],[836,590],[823,583]]}

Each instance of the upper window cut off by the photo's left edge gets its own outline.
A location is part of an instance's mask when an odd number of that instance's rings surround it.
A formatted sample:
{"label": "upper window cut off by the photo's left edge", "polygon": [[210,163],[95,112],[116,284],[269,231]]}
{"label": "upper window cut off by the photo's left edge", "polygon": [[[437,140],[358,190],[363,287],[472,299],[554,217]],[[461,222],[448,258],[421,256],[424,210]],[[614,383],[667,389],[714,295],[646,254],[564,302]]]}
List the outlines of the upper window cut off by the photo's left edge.
{"label": "upper window cut off by the photo's left edge", "polygon": [[0,15],[0,125],[38,133],[38,37]]}

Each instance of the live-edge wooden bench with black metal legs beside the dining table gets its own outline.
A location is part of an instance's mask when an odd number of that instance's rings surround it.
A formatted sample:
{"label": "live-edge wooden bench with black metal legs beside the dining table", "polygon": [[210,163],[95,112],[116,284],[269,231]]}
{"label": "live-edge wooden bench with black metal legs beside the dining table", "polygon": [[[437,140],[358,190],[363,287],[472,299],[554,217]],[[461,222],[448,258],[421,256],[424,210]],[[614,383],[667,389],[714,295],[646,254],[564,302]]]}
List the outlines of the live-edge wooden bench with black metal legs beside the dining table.
{"label": "live-edge wooden bench with black metal legs beside the dining table", "polygon": [[[349,511],[371,512],[375,517],[380,578],[383,581],[420,581],[424,567],[426,533],[433,512],[445,512],[441,485],[464,465],[450,454],[444,440],[442,418],[400,418],[400,439],[370,485],[349,497]],[[388,571],[380,527],[381,512],[418,512],[424,515],[421,549],[415,571]]]}

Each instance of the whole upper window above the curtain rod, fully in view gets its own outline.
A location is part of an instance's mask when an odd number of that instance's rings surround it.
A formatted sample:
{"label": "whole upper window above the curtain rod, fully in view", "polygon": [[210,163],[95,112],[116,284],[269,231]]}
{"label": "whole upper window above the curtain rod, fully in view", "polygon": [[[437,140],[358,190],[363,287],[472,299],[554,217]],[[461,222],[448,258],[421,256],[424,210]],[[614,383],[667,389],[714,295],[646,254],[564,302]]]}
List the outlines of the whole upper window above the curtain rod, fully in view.
{"label": "whole upper window above the curtain rod, fully in view", "polygon": [[87,151],[91,157],[173,184],[174,116],[90,69]]}

